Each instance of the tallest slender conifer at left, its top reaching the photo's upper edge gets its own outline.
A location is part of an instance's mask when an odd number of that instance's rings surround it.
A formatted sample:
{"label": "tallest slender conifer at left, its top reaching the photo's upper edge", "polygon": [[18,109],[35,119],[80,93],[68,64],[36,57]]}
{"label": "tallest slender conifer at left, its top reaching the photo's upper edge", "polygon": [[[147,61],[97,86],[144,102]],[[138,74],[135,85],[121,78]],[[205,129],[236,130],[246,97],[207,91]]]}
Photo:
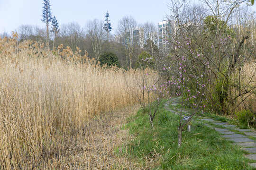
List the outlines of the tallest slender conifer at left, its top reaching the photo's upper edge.
{"label": "tallest slender conifer at left, its top reaching the photo's upper edge", "polygon": [[49,23],[52,21],[52,13],[51,13],[51,5],[50,0],[44,0],[43,3],[43,19],[41,19],[44,23],[46,23],[46,35],[47,35],[47,42],[49,42]]}

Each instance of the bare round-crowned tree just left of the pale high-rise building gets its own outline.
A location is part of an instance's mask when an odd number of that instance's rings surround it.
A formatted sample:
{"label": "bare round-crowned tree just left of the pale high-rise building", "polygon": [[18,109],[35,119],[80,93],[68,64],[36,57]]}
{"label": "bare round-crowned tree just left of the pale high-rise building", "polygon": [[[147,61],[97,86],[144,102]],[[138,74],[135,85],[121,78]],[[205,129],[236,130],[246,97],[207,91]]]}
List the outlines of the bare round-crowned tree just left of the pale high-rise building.
{"label": "bare round-crowned tree just left of the pale high-rise building", "polygon": [[129,68],[132,68],[133,53],[135,49],[139,46],[139,44],[134,43],[135,40],[133,38],[133,34],[137,34],[135,33],[135,30],[134,30],[136,27],[137,27],[137,22],[131,16],[130,17],[125,16],[122,19],[120,19],[117,27],[118,41],[126,48],[126,52],[127,52],[126,62],[128,67],[128,59],[129,59]]}

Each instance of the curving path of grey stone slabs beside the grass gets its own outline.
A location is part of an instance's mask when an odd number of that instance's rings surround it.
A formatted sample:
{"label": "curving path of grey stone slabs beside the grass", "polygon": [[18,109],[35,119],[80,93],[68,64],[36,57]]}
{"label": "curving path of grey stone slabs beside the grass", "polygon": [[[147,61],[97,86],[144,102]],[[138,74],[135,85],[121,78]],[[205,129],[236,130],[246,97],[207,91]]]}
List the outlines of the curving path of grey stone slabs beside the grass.
{"label": "curving path of grey stone slabs beside the grass", "polygon": [[[183,116],[186,116],[189,111],[185,109],[169,109],[169,105],[175,107],[179,103],[178,98],[174,98],[172,103],[165,103],[165,109],[179,115],[180,111],[183,111]],[[256,161],[256,141],[248,138],[249,136],[256,137],[256,131],[253,129],[240,129],[236,125],[230,125],[227,122],[219,122],[211,118],[201,118],[199,122],[204,123],[205,126],[215,129],[221,134],[221,137],[234,142],[234,145],[238,145],[241,149],[247,151],[245,157]],[[216,125],[216,127],[215,127]],[[220,128],[221,127],[221,128]],[[256,163],[249,163],[250,166],[256,168]]]}

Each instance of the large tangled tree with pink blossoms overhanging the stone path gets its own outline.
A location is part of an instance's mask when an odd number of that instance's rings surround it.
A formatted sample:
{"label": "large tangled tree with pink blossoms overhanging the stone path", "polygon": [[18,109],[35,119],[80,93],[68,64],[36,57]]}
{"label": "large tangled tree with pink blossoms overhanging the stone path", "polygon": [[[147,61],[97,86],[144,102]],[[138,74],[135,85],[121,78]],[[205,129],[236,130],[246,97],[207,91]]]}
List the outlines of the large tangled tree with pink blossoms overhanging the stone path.
{"label": "large tangled tree with pink blossoms overhanging the stone path", "polygon": [[[239,9],[237,6],[232,7]],[[226,9],[230,16],[221,20],[218,11],[210,13],[203,7],[191,6],[185,1],[172,0],[169,8],[169,20],[174,21],[176,31],[171,31],[171,38],[164,40],[172,48],[165,59],[169,62],[163,62],[159,71],[168,75],[171,81],[168,85],[174,91],[169,94],[181,96],[182,104],[192,108],[190,117],[185,121],[182,111],[180,113],[178,145],[181,146],[182,131],[196,113],[208,109],[227,114],[234,108],[238,97],[255,93],[256,86],[247,83],[242,90],[240,79],[235,79],[243,62],[252,59],[249,53],[243,60],[239,57],[245,52],[243,46],[250,37],[248,32],[245,32],[242,39],[236,38],[234,29],[228,26],[229,18],[235,10]],[[251,78],[254,76],[255,72],[250,75]],[[241,92],[234,96],[232,90]]]}

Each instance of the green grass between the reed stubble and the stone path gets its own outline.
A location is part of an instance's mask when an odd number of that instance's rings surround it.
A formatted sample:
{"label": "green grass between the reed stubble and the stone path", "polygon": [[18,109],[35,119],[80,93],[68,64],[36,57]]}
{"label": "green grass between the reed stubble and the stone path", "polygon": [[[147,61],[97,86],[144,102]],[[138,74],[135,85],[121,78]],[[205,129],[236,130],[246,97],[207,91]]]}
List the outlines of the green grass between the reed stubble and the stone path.
{"label": "green grass between the reed stubble and the stone path", "polygon": [[183,144],[178,148],[179,116],[161,104],[152,129],[148,115],[138,110],[124,128],[134,136],[120,146],[118,154],[138,162],[155,161],[153,170],[251,170],[244,151],[219,133],[201,123],[192,124],[191,132],[183,132]]}

